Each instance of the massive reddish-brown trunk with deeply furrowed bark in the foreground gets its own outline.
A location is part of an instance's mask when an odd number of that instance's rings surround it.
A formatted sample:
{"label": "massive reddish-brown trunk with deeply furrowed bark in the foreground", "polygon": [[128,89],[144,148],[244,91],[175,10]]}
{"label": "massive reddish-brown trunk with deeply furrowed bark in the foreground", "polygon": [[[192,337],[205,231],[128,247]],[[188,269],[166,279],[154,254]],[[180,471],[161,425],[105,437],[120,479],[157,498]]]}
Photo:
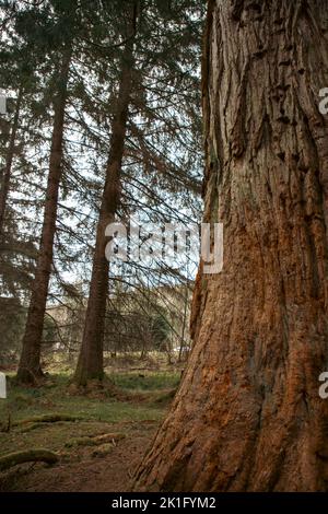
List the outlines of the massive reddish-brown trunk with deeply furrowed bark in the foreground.
{"label": "massive reddish-brown trunk with deeply furrowed bark in the foreground", "polygon": [[211,0],[203,57],[206,221],[195,346],[137,488],[328,488],[328,2]]}

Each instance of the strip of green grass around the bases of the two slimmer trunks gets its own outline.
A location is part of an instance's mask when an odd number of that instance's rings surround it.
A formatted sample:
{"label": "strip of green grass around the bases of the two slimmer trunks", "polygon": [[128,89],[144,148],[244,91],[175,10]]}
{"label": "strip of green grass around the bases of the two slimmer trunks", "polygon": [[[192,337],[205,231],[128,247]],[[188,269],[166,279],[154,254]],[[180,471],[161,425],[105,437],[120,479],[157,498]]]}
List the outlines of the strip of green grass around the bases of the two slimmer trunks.
{"label": "strip of green grass around the bases of the two slimmer trunks", "polygon": [[125,392],[142,393],[140,401],[133,395],[132,401],[118,401],[108,398],[92,398],[90,396],[69,394],[69,375],[57,374],[50,377],[48,384],[39,388],[23,388],[10,379],[8,399],[0,400],[0,422],[5,422],[8,409],[12,421],[39,416],[44,413],[70,413],[86,420],[106,422],[161,420],[165,412],[165,402],[159,401],[159,396],[178,385],[179,373],[148,372],[140,374],[114,373],[110,379]]}

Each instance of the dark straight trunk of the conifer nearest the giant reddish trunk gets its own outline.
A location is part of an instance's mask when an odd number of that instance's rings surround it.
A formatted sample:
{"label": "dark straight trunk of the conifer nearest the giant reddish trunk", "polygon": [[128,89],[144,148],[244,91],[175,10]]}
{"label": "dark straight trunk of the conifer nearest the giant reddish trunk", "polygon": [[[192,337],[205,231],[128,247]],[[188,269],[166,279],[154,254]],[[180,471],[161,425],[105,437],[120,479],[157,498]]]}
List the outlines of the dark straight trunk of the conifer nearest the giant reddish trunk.
{"label": "dark straight trunk of the conifer nearest the giant reddish trunk", "polygon": [[121,61],[121,78],[112,127],[106,182],[97,224],[83,339],[74,375],[74,382],[79,385],[86,385],[91,379],[102,381],[104,373],[103,348],[109,273],[109,264],[105,257],[107,244],[105,229],[115,221],[115,214],[120,201],[121,164],[132,87],[137,3],[134,2],[133,4],[133,14],[128,27],[128,38]]}

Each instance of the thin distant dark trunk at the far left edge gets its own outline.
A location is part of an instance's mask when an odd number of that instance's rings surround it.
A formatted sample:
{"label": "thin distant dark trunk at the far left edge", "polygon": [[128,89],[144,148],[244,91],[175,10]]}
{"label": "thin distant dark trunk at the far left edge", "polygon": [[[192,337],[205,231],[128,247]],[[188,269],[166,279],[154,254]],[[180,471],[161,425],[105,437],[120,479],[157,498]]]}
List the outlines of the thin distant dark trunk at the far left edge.
{"label": "thin distant dark trunk at the far left edge", "polygon": [[20,87],[17,100],[16,100],[16,105],[15,105],[15,114],[14,114],[10,140],[9,140],[8,153],[7,153],[5,164],[4,164],[3,175],[2,175],[1,190],[0,190],[0,237],[2,237],[3,235],[4,213],[5,213],[8,194],[9,194],[9,188],[10,188],[10,177],[11,177],[12,162],[13,162],[14,151],[15,151],[15,139],[16,139],[16,133],[17,133],[17,128],[19,128],[22,95],[23,95],[23,87]]}

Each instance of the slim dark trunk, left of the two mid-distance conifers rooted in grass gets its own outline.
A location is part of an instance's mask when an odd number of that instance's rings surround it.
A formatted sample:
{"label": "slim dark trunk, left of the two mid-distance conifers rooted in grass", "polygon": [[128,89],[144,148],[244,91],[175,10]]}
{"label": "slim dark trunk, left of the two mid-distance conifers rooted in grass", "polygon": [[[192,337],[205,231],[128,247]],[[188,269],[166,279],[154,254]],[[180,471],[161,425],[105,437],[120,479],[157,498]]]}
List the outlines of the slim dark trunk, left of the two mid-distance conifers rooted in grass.
{"label": "slim dark trunk, left of the two mid-distance conifers rooted in grass", "polygon": [[63,55],[62,67],[58,79],[58,92],[54,100],[55,117],[44,223],[17,371],[17,379],[22,383],[35,383],[37,378],[43,375],[40,369],[40,344],[52,266],[58,194],[62,174],[62,138],[70,61],[71,51],[68,49]]}

